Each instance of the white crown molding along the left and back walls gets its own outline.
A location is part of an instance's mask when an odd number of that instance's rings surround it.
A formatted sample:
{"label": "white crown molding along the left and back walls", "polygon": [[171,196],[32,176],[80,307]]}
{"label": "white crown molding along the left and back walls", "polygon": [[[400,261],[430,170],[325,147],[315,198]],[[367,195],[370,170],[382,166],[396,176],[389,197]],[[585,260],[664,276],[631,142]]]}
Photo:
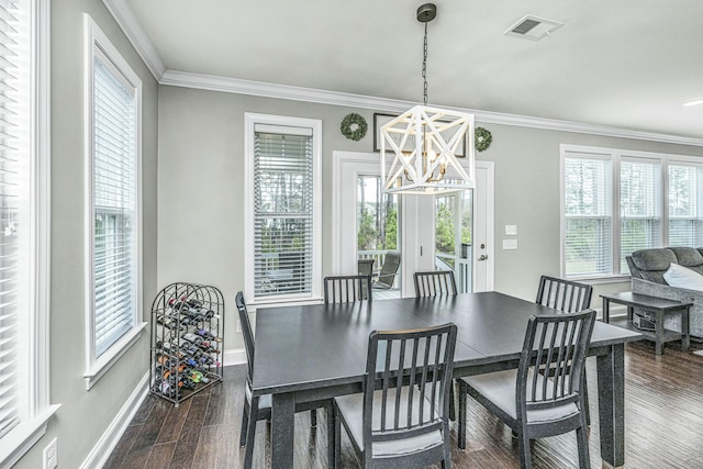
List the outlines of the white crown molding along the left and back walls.
{"label": "white crown molding along the left and back walls", "polygon": [[[417,102],[400,101],[387,98],[352,94],[338,91],[326,91],[313,88],[293,87],[289,85],[267,83],[188,71],[167,70],[154,45],[134,18],[134,13],[125,0],[103,0],[115,21],[124,31],[134,48],[149,68],[159,85],[194,88],[210,91],[248,94],[263,98],[286,99],[292,101],[313,102],[319,104],[342,105],[347,108],[369,109],[380,112],[402,113]],[[446,108],[446,107],[443,107]],[[518,127],[542,129],[558,132],[573,132],[588,135],[602,135],[620,138],[633,138],[647,142],[670,143],[677,145],[703,146],[702,138],[678,135],[634,131],[607,125],[585,124],[554,119],[533,118],[528,115],[504,114],[465,108],[448,108],[460,112],[469,112],[476,120],[487,124],[512,125]]]}

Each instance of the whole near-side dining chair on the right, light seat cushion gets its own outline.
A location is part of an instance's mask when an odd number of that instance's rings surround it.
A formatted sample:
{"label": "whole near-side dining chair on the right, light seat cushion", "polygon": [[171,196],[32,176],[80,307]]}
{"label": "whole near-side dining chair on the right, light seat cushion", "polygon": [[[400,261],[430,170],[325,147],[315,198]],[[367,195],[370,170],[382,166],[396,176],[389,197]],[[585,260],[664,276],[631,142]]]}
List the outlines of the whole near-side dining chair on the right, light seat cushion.
{"label": "whole near-side dining chair on the right, light seat cushion", "polygon": [[[460,447],[466,446],[466,395],[471,395],[517,435],[520,465],[532,468],[529,440],[576,431],[579,467],[591,467],[583,411],[583,367],[595,311],[532,316],[517,369],[459,380]],[[542,370],[554,368],[547,377]],[[462,445],[464,446],[462,446]]]}

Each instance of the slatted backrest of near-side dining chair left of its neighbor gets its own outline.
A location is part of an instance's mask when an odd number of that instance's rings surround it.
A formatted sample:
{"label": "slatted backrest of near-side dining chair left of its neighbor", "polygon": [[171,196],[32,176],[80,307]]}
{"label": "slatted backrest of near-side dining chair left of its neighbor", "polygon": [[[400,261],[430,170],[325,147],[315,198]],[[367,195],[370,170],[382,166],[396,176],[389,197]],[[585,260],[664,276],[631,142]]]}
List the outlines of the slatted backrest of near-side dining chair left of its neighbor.
{"label": "slatted backrest of near-side dining chair left of its neighbor", "polygon": [[[371,333],[364,388],[365,445],[411,438],[437,429],[445,432],[445,438],[449,437],[456,338],[457,326],[453,323]],[[373,405],[375,393],[377,405]],[[372,453],[371,446],[367,448]],[[411,449],[416,448],[409,451]]]}

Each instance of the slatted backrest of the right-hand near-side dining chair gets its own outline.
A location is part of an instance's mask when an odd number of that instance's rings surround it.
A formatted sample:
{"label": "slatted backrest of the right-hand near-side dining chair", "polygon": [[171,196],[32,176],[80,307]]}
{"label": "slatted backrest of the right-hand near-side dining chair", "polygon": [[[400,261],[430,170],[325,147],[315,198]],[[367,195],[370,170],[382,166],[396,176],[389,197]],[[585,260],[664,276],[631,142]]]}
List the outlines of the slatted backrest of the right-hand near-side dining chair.
{"label": "slatted backrest of the right-hand near-side dining chair", "polygon": [[[532,316],[527,324],[516,382],[517,418],[528,412],[581,403],[595,311]],[[554,370],[546,377],[544,370]]]}

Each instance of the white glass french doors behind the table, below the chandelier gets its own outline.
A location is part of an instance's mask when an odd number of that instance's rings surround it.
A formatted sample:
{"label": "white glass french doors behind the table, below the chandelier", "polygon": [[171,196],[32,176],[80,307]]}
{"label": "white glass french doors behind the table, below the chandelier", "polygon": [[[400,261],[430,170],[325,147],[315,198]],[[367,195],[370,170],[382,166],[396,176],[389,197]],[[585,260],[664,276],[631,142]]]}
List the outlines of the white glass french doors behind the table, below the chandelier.
{"label": "white glass french doors behind the table, below the chandelier", "polygon": [[470,191],[391,196],[381,191],[378,154],[333,157],[334,275],[355,273],[359,259],[391,271],[386,256],[400,253],[392,283],[375,290],[375,298],[414,295],[413,273],[422,270],[454,270],[461,292],[492,290],[492,163],[477,163]]}

